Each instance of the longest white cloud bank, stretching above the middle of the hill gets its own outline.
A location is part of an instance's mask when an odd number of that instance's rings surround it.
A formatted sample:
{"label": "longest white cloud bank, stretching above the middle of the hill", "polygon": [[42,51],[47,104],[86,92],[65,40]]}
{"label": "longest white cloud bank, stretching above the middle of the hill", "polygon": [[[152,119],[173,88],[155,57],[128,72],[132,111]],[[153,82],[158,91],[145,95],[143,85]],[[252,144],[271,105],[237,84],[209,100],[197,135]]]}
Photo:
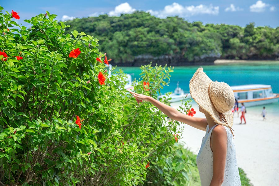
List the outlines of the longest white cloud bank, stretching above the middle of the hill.
{"label": "longest white cloud bank, stretching above the middle of the hill", "polygon": [[213,7],[211,4],[210,6],[206,5],[198,5],[198,6],[186,6],[183,7],[182,5],[174,2],[171,5],[167,5],[163,10],[159,11],[153,11],[148,10],[152,15],[155,15],[157,17],[165,18],[167,16],[186,16],[189,17],[191,15],[198,15],[198,14],[212,14],[212,15],[218,15],[219,14],[219,7]]}

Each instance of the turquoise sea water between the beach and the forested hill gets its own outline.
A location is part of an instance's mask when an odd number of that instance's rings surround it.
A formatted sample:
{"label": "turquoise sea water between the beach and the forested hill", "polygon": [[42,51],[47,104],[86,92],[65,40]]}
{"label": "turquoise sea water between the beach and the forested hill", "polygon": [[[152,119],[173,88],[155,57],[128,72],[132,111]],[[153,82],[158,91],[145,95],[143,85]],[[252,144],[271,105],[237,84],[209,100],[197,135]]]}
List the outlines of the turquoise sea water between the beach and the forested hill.
{"label": "turquoise sea water between the beach and the forested hill", "polygon": [[[179,66],[170,73],[170,84],[161,91],[173,92],[177,82],[184,92],[189,92],[189,81],[200,66]],[[226,82],[230,86],[246,84],[266,84],[272,86],[273,93],[279,93],[279,61],[258,61],[247,63],[229,63],[202,66],[204,72],[212,81]],[[132,76],[132,81],[140,78],[139,67],[117,67]],[[263,106],[266,107],[267,116],[279,116],[279,102],[247,108],[247,112],[260,114]]]}

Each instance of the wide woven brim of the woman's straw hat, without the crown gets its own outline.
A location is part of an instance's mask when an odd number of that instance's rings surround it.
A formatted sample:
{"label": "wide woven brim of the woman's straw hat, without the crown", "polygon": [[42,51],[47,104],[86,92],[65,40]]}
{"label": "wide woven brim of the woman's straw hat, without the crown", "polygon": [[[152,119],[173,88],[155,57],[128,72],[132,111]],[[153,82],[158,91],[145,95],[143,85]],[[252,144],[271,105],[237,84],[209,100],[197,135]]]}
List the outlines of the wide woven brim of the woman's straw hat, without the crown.
{"label": "wide woven brim of the woman's straw hat, without the crown", "polygon": [[190,94],[197,104],[210,115],[214,122],[219,125],[232,127],[232,111],[229,110],[228,112],[224,113],[228,124],[223,120],[220,121],[219,112],[214,108],[210,101],[208,88],[211,82],[212,80],[206,75],[206,73],[203,72],[203,68],[198,68],[189,83]]}

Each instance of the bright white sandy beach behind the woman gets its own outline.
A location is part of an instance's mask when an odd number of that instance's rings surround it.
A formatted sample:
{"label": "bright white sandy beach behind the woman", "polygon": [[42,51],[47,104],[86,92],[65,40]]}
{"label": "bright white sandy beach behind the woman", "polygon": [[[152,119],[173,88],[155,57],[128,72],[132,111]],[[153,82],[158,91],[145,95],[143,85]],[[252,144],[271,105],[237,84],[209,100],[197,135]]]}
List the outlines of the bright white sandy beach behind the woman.
{"label": "bright white sandy beach behind the woman", "polygon": [[[172,104],[178,108],[177,103]],[[195,117],[205,117],[197,111]],[[239,116],[240,117],[240,116]],[[260,114],[247,113],[246,125],[239,125],[240,118],[234,117],[234,143],[237,153],[237,164],[247,174],[254,186],[277,185],[279,183],[279,116],[268,117],[263,121]],[[180,142],[197,154],[205,132],[185,125]]]}

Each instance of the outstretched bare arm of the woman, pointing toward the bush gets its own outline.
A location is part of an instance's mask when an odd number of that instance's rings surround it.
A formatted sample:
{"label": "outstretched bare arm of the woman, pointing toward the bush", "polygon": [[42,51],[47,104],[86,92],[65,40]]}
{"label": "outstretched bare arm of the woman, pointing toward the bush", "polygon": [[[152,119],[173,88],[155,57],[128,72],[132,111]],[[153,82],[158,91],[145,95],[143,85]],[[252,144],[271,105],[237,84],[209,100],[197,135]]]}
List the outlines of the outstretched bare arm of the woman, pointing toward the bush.
{"label": "outstretched bare arm of the woman, pointing toward the bush", "polygon": [[138,94],[138,93],[131,92],[131,91],[130,91],[130,93],[133,94],[137,103],[142,102],[142,101],[149,101],[150,103],[152,103],[155,107],[157,107],[159,110],[161,110],[164,114],[166,114],[171,119],[179,121],[179,122],[183,122],[187,125],[193,126],[202,131],[206,131],[206,126],[207,126],[206,118],[191,117],[186,114],[180,113],[175,108],[172,108],[169,105],[166,105],[158,100],[155,100],[154,98],[152,98],[148,95]]}

